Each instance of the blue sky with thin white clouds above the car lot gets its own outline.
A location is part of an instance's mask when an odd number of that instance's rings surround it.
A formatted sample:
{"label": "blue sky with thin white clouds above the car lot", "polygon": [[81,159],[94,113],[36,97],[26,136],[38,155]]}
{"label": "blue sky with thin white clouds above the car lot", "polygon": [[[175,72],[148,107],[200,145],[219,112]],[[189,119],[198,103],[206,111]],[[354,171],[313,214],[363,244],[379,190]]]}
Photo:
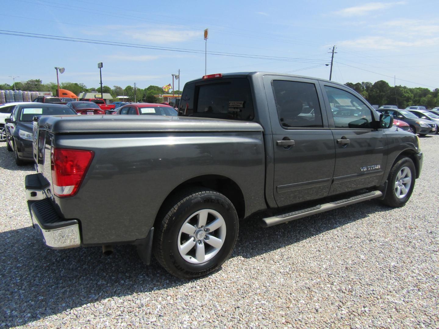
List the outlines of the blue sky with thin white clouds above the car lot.
{"label": "blue sky with thin white clouds above the car lot", "polygon": [[[125,43],[114,46],[0,34],[0,83],[42,79],[180,89],[205,73],[290,72],[332,80],[439,87],[439,1],[2,1],[0,29]],[[2,33],[11,33],[4,32]],[[12,32],[12,34],[16,34]],[[137,45],[133,47],[133,45]],[[140,48],[139,48],[140,47]],[[170,50],[151,49],[157,47]],[[209,54],[216,52],[217,54]],[[222,53],[222,54],[218,54]],[[405,81],[404,81],[405,80]],[[175,82],[175,89],[177,89]]]}

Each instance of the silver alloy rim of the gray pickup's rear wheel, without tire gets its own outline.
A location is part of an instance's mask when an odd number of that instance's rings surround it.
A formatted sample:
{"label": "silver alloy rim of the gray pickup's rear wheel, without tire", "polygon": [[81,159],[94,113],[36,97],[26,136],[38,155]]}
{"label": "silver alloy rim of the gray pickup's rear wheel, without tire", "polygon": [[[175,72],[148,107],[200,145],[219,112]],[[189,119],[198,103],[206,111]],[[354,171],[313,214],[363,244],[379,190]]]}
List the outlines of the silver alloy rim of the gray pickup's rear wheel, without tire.
{"label": "silver alloy rim of the gray pickup's rear wheel, without tire", "polygon": [[202,264],[218,254],[226,238],[226,222],[219,212],[202,209],[189,216],[178,233],[181,257],[192,264]]}

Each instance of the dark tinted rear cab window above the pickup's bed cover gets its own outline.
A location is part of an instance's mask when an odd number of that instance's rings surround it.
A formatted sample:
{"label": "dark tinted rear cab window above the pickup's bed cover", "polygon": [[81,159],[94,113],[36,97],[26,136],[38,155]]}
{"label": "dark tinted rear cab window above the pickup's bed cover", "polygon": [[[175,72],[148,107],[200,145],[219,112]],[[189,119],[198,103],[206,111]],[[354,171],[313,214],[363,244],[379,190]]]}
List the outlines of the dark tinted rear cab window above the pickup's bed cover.
{"label": "dark tinted rear cab window above the pickup's bed cover", "polygon": [[252,121],[250,82],[246,78],[212,79],[184,87],[180,116]]}

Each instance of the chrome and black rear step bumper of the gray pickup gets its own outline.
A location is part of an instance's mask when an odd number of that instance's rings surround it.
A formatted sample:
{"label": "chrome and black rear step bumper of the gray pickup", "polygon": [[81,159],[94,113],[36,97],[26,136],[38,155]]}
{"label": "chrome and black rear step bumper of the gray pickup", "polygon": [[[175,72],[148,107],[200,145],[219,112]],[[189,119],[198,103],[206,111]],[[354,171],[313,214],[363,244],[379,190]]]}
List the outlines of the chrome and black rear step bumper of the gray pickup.
{"label": "chrome and black rear step bumper of the gray pickup", "polygon": [[66,249],[79,247],[81,236],[76,219],[61,218],[44,190],[49,182],[41,173],[26,175],[26,196],[32,222],[39,229],[47,247]]}

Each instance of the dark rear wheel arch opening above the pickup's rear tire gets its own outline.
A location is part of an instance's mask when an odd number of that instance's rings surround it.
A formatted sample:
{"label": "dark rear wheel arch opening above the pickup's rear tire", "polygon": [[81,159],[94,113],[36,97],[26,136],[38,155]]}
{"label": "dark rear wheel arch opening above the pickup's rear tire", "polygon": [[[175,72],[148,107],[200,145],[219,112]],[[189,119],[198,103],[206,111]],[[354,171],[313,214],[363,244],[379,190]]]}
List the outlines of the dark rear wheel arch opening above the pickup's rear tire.
{"label": "dark rear wheel arch opening above the pickup's rear tire", "polygon": [[233,179],[222,175],[201,175],[182,182],[176,186],[166,197],[166,199],[160,205],[157,217],[155,218],[154,226],[158,221],[161,221],[161,215],[163,214],[164,207],[169,206],[169,202],[175,198],[178,194],[191,188],[205,187],[211,190],[215,190],[223,194],[234,205],[238,218],[245,216],[245,199],[241,188]]}

